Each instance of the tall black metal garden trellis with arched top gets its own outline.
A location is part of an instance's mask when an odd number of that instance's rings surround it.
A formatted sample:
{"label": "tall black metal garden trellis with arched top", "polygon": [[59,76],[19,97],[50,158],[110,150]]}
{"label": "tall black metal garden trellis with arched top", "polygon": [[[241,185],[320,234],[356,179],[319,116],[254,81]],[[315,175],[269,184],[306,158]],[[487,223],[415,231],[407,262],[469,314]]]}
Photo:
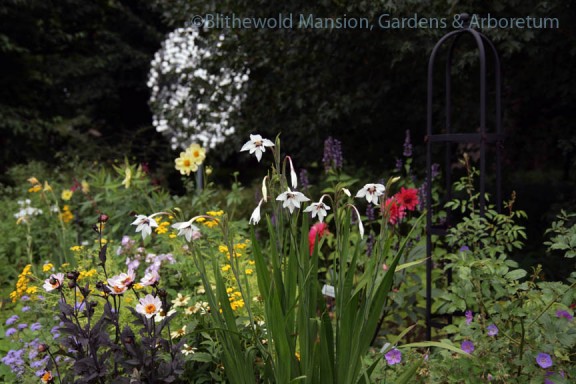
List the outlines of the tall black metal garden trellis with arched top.
{"label": "tall black metal garden trellis with arched top", "polygon": [[[462,15],[461,20],[469,20],[467,15]],[[471,36],[473,41],[476,43],[476,48],[478,51],[479,58],[479,90],[480,90],[480,100],[479,100],[479,126],[477,132],[471,133],[455,133],[452,126],[452,60],[454,56],[455,48],[458,42],[464,36]],[[443,132],[434,133],[433,126],[433,75],[434,75],[434,65],[437,60],[437,56],[443,47],[443,45],[448,44],[448,53],[446,56],[446,66],[444,72],[444,87],[445,87],[445,106],[444,106],[444,122],[443,122]],[[493,89],[494,100],[493,106],[495,116],[490,125],[494,125],[492,131],[488,131],[487,127],[487,60],[486,51],[491,52],[493,56],[493,72],[495,78],[495,85]],[[485,192],[486,192],[486,151],[487,146],[492,145],[496,148],[496,206],[500,210],[502,196],[501,196],[501,161],[502,161],[502,142],[504,140],[504,134],[502,132],[502,109],[501,109],[501,73],[500,73],[500,59],[496,48],[492,42],[482,33],[472,29],[469,23],[465,23],[462,29],[458,29],[444,35],[438,43],[434,46],[432,53],[430,54],[430,59],[428,63],[428,106],[427,106],[427,129],[426,129],[426,169],[427,169],[427,183],[426,183],[426,338],[428,340],[432,337],[432,327],[441,326],[444,324],[434,323],[432,314],[432,269],[434,261],[432,260],[432,236],[443,236],[447,232],[448,223],[435,224],[433,220],[432,212],[432,150],[433,146],[444,145],[445,149],[445,178],[446,178],[446,196],[445,201],[449,201],[452,198],[452,177],[451,177],[451,157],[452,157],[452,147],[454,144],[461,143],[472,143],[479,146],[479,167],[480,167],[480,198],[479,198],[479,209],[480,215],[484,215],[485,211]],[[442,126],[442,124],[439,124]],[[448,281],[450,282],[451,276],[448,276]],[[449,319],[448,321],[450,321]]]}

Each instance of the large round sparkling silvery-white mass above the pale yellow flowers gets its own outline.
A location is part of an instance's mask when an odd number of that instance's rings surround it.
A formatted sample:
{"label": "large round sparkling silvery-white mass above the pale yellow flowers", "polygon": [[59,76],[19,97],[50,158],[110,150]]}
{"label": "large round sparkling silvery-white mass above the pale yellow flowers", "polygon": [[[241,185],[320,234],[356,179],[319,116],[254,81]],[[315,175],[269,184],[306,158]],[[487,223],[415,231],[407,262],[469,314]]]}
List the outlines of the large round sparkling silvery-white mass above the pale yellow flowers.
{"label": "large round sparkling silvery-white mass above the pale yellow flowers", "polygon": [[210,40],[196,27],[178,28],[152,60],[147,85],[153,124],[173,149],[192,142],[213,148],[235,132],[233,114],[245,97],[249,70],[225,64],[224,40],[223,34]]}

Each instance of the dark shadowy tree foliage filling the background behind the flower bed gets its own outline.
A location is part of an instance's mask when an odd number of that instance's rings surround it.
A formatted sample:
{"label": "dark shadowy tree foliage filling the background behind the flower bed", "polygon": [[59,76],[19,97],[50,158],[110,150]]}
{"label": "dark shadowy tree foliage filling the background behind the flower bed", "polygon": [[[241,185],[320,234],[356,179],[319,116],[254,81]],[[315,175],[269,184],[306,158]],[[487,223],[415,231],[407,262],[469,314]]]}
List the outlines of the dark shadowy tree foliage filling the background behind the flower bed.
{"label": "dark shadowy tree foliage filling the background behind the flower bed", "polygon": [[[173,153],[154,131],[146,79],[154,53],[171,30],[193,15],[278,13],[375,18],[382,13],[448,17],[461,12],[498,17],[557,17],[558,30],[488,30],[502,58],[507,188],[531,218],[526,253],[536,254],[542,233],[560,206],[574,204],[575,34],[573,4],[553,1],[360,1],[346,4],[265,1],[7,0],[0,5],[0,181],[14,185],[12,165],[54,156],[72,163],[134,156],[158,181],[184,190],[171,169]],[[240,165],[235,152],[249,132],[281,132],[299,163],[314,169],[316,148],[328,136],[343,142],[346,164],[374,171],[399,157],[396,143],[412,131],[416,159],[425,126],[426,64],[448,30],[374,31],[234,29],[222,65],[250,69],[237,134],[217,148],[216,177],[229,180]],[[205,30],[215,38],[220,30]],[[475,60],[456,64],[459,129],[475,121]],[[242,60],[242,63],[237,61]],[[247,63],[244,61],[247,60]],[[522,171],[518,171],[522,170]],[[543,192],[545,191],[545,192]],[[541,249],[541,248],[540,248]],[[541,261],[534,256],[532,261]]]}

